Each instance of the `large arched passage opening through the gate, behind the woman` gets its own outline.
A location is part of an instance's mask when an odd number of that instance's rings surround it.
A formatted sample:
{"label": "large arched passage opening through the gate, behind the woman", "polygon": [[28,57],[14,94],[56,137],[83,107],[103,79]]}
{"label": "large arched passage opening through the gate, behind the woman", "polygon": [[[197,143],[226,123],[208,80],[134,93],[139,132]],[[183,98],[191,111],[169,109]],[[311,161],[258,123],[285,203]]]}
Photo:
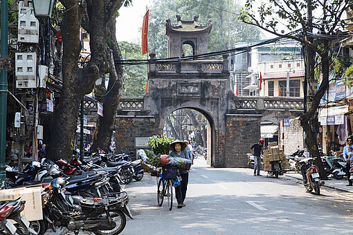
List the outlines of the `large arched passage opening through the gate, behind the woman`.
{"label": "large arched passage opening through the gate, behind the woman", "polygon": [[213,126],[212,118],[204,111],[177,109],[165,118],[163,133],[174,140],[190,141],[197,158],[212,165]]}

